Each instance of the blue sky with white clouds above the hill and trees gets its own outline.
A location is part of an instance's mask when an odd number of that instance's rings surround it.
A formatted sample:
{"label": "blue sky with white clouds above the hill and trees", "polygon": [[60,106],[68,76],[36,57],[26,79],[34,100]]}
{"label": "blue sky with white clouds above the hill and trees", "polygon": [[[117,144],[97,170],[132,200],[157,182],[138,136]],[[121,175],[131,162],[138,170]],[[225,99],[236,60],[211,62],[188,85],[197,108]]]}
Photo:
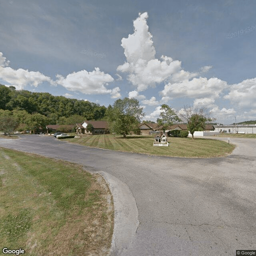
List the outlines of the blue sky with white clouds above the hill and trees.
{"label": "blue sky with white clouds above the hill and trees", "polygon": [[0,84],[256,120],[256,1],[1,1]]}

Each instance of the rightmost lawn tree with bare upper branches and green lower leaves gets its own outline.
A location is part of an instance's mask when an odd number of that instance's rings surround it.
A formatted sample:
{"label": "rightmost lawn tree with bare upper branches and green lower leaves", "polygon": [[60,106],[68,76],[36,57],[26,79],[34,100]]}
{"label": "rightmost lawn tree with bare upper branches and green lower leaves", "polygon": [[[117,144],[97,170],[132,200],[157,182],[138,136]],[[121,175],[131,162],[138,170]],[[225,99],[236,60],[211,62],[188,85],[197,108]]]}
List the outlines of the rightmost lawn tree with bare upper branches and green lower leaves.
{"label": "rightmost lawn tree with bare upper branches and green lower leaves", "polygon": [[187,122],[187,129],[192,134],[194,139],[195,131],[203,131],[206,126],[206,122],[211,122],[213,118],[210,118],[210,112],[208,108],[184,106],[180,111],[180,117],[184,122]]}

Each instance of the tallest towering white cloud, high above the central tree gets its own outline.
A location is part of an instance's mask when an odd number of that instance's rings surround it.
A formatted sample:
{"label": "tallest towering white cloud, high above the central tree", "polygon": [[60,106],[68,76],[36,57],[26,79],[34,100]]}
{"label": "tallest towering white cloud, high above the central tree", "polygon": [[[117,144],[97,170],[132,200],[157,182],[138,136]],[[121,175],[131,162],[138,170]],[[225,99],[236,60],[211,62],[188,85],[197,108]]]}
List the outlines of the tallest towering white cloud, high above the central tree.
{"label": "tallest towering white cloud, high above the central tree", "polygon": [[149,86],[155,87],[172,74],[179,72],[181,62],[172,60],[168,56],[161,56],[161,60],[155,58],[152,35],[148,31],[146,19],[148,14],[144,12],[134,20],[134,34],[122,39],[121,46],[127,62],[118,66],[117,71],[128,72],[127,79],[137,86],[139,92]]}

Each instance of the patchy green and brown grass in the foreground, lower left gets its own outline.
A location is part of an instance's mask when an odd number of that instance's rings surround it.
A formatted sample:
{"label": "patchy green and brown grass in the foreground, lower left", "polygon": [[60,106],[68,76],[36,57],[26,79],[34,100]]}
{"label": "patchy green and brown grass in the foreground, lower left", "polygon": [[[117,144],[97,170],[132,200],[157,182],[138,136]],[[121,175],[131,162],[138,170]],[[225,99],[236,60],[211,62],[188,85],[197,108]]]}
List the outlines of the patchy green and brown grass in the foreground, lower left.
{"label": "patchy green and brown grass in the foreground, lower left", "polygon": [[100,175],[4,148],[0,162],[2,248],[22,248],[29,256],[108,253],[114,208]]}

